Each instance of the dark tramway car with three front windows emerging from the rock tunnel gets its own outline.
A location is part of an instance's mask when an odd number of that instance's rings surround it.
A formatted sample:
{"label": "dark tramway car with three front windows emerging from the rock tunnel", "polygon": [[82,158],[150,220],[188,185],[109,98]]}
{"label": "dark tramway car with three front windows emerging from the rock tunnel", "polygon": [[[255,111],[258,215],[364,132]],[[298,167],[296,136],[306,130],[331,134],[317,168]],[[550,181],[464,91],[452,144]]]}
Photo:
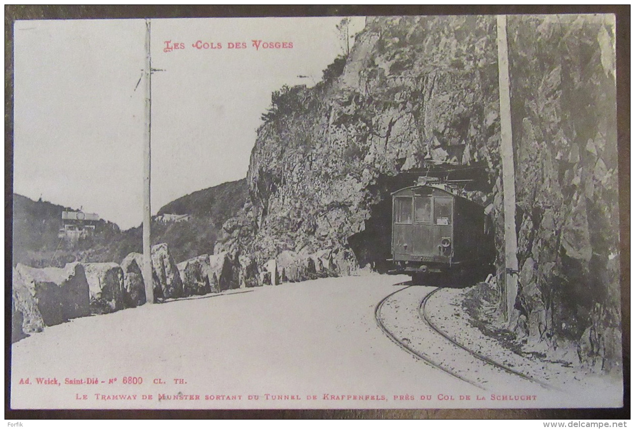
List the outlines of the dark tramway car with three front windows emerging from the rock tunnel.
{"label": "dark tramway car with three front windows emerging from the rock tunnel", "polygon": [[493,228],[484,208],[457,186],[419,177],[392,193],[391,274],[415,282],[485,272],[493,263]]}

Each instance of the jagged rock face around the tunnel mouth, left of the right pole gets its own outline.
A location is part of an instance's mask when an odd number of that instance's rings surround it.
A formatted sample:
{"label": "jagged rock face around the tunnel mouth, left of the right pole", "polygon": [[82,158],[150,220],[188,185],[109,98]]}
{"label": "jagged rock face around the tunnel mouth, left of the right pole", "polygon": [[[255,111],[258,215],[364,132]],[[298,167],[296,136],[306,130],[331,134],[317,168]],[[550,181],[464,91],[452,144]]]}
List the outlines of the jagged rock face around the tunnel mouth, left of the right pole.
{"label": "jagged rock face around the tunnel mouth, left of the right pole", "polygon": [[494,22],[369,18],[339,77],[275,94],[248,170],[251,217],[234,222],[255,240],[225,236],[219,249],[240,242],[261,262],[347,249],[395,190],[377,181],[424,160],[485,161],[496,177]]}

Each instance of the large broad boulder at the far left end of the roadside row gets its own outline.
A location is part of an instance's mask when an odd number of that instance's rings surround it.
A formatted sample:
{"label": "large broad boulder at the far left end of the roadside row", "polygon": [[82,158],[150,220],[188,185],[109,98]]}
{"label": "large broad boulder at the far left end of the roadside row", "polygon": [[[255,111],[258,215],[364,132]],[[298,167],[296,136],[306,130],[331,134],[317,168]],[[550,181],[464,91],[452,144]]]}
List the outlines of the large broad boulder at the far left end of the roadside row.
{"label": "large broad boulder at the far left end of the roadside row", "polygon": [[37,332],[39,322],[35,307],[46,326],[90,315],[90,289],[81,264],[74,262],[64,268],[31,268],[18,264],[15,271],[18,310],[23,313],[25,332]]}

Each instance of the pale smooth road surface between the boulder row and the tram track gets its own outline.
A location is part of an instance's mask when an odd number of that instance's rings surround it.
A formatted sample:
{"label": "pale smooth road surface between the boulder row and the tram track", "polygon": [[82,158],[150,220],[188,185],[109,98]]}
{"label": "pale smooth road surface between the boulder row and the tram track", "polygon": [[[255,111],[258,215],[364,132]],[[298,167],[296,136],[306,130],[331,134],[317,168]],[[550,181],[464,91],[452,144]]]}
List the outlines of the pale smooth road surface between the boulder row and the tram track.
{"label": "pale smooth road surface between the boulder row and the tram track", "polygon": [[[460,394],[475,395],[479,390],[411,357],[377,327],[375,305],[406,280],[406,276],[368,275],[288,283],[146,305],[47,327],[13,344],[12,404],[45,408],[478,406],[438,400],[446,393],[458,400]],[[139,381],[131,377],[142,378],[142,384],[123,383]],[[20,379],[26,378],[31,384],[20,385]],[[37,385],[36,378],[55,378],[60,385]],[[84,384],[65,384],[66,378]],[[97,378],[97,385],[86,384],[87,378]],[[165,384],[153,383],[158,379]],[[142,395],[152,395],[152,400]],[[166,396],[159,401],[159,395]],[[249,395],[258,395],[258,400],[250,400]],[[272,399],[277,395],[281,399]],[[309,400],[307,395],[316,399]],[[415,399],[395,399],[395,395]]]}

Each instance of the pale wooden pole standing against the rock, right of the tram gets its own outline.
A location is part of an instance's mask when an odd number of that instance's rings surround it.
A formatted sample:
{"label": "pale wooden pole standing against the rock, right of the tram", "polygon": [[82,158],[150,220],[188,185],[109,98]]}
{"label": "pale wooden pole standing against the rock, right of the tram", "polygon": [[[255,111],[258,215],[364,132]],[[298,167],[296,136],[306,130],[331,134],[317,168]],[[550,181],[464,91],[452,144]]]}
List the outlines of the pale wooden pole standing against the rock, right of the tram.
{"label": "pale wooden pole standing against the rock, right of the tram", "polygon": [[500,100],[500,158],[503,170],[503,210],[505,219],[505,283],[503,310],[512,321],[518,294],[518,242],[516,241],[516,176],[512,144],[512,112],[509,97],[509,58],[507,57],[507,17],[498,15],[498,97]]}

